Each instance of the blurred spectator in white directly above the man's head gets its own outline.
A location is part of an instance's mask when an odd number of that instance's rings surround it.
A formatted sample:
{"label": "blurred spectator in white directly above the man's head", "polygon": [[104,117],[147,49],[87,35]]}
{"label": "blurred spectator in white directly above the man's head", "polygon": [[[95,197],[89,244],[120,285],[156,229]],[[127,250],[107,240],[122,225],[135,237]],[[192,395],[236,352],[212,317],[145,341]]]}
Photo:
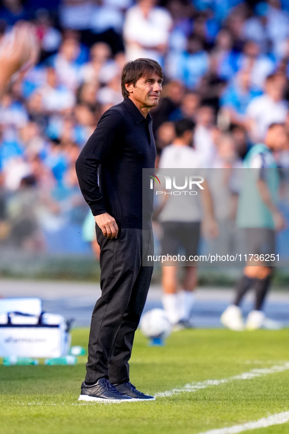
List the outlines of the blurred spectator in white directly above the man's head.
{"label": "blurred spectator in white directly above the man's head", "polygon": [[148,57],[163,65],[172,27],[170,13],[156,0],[139,0],[126,14],[124,39],[127,60]]}

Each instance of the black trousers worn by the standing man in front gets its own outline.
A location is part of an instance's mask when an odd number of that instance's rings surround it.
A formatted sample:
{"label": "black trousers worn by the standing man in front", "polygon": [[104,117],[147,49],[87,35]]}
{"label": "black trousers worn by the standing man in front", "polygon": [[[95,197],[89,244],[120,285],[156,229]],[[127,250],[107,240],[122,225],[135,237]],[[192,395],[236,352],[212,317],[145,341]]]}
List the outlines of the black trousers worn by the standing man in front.
{"label": "black trousers worn by the standing man in front", "polygon": [[112,384],[129,380],[134,332],[139,324],[153,267],[143,267],[153,254],[153,231],[122,228],[117,239],[107,239],[96,225],[100,246],[101,297],[91,318],[85,381],[106,377]]}

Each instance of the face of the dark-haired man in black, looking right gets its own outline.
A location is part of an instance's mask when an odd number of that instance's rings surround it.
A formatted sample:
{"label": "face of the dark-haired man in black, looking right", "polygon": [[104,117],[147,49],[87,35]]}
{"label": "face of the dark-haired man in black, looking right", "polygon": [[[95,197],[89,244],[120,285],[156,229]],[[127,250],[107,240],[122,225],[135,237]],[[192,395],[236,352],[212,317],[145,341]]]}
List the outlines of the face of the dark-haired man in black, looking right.
{"label": "face of the dark-haired man in black, looking right", "polygon": [[162,91],[162,79],[156,72],[141,77],[135,85],[127,87],[130,92],[130,98],[140,108],[152,108],[158,105],[159,97]]}

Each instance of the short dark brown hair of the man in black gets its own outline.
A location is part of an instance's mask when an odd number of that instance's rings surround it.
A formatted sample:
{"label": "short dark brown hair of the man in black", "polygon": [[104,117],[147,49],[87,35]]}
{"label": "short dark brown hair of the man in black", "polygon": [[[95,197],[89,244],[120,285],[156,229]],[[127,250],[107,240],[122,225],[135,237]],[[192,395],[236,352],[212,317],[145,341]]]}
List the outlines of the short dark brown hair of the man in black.
{"label": "short dark brown hair of the man in black", "polygon": [[133,84],[142,77],[147,77],[150,74],[156,73],[163,80],[162,67],[153,59],[136,59],[127,62],[121,73],[121,93],[124,98],[129,97],[125,85]]}

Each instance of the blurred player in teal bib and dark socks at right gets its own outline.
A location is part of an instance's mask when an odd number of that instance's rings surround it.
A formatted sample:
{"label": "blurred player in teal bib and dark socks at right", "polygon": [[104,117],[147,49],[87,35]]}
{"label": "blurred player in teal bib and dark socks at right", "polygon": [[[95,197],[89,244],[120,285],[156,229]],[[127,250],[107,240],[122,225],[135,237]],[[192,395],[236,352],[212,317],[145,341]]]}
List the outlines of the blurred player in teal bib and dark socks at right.
{"label": "blurred player in teal bib and dark socks at right", "polygon": [[[285,219],[277,208],[279,176],[274,151],[288,146],[284,124],[271,124],[264,143],[254,145],[245,156],[245,179],[237,210],[237,225],[245,228],[247,255],[275,254],[275,234],[285,228]],[[222,313],[221,322],[236,331],[257,328],[279,328],[279,323],[265,317],[263,304],[272,280],[273,268],[264,260],[247,260],[243,276],[237,284],[234,303]],[[255,290],[254,309],[244,324],[240,304],[249,291]]]}

